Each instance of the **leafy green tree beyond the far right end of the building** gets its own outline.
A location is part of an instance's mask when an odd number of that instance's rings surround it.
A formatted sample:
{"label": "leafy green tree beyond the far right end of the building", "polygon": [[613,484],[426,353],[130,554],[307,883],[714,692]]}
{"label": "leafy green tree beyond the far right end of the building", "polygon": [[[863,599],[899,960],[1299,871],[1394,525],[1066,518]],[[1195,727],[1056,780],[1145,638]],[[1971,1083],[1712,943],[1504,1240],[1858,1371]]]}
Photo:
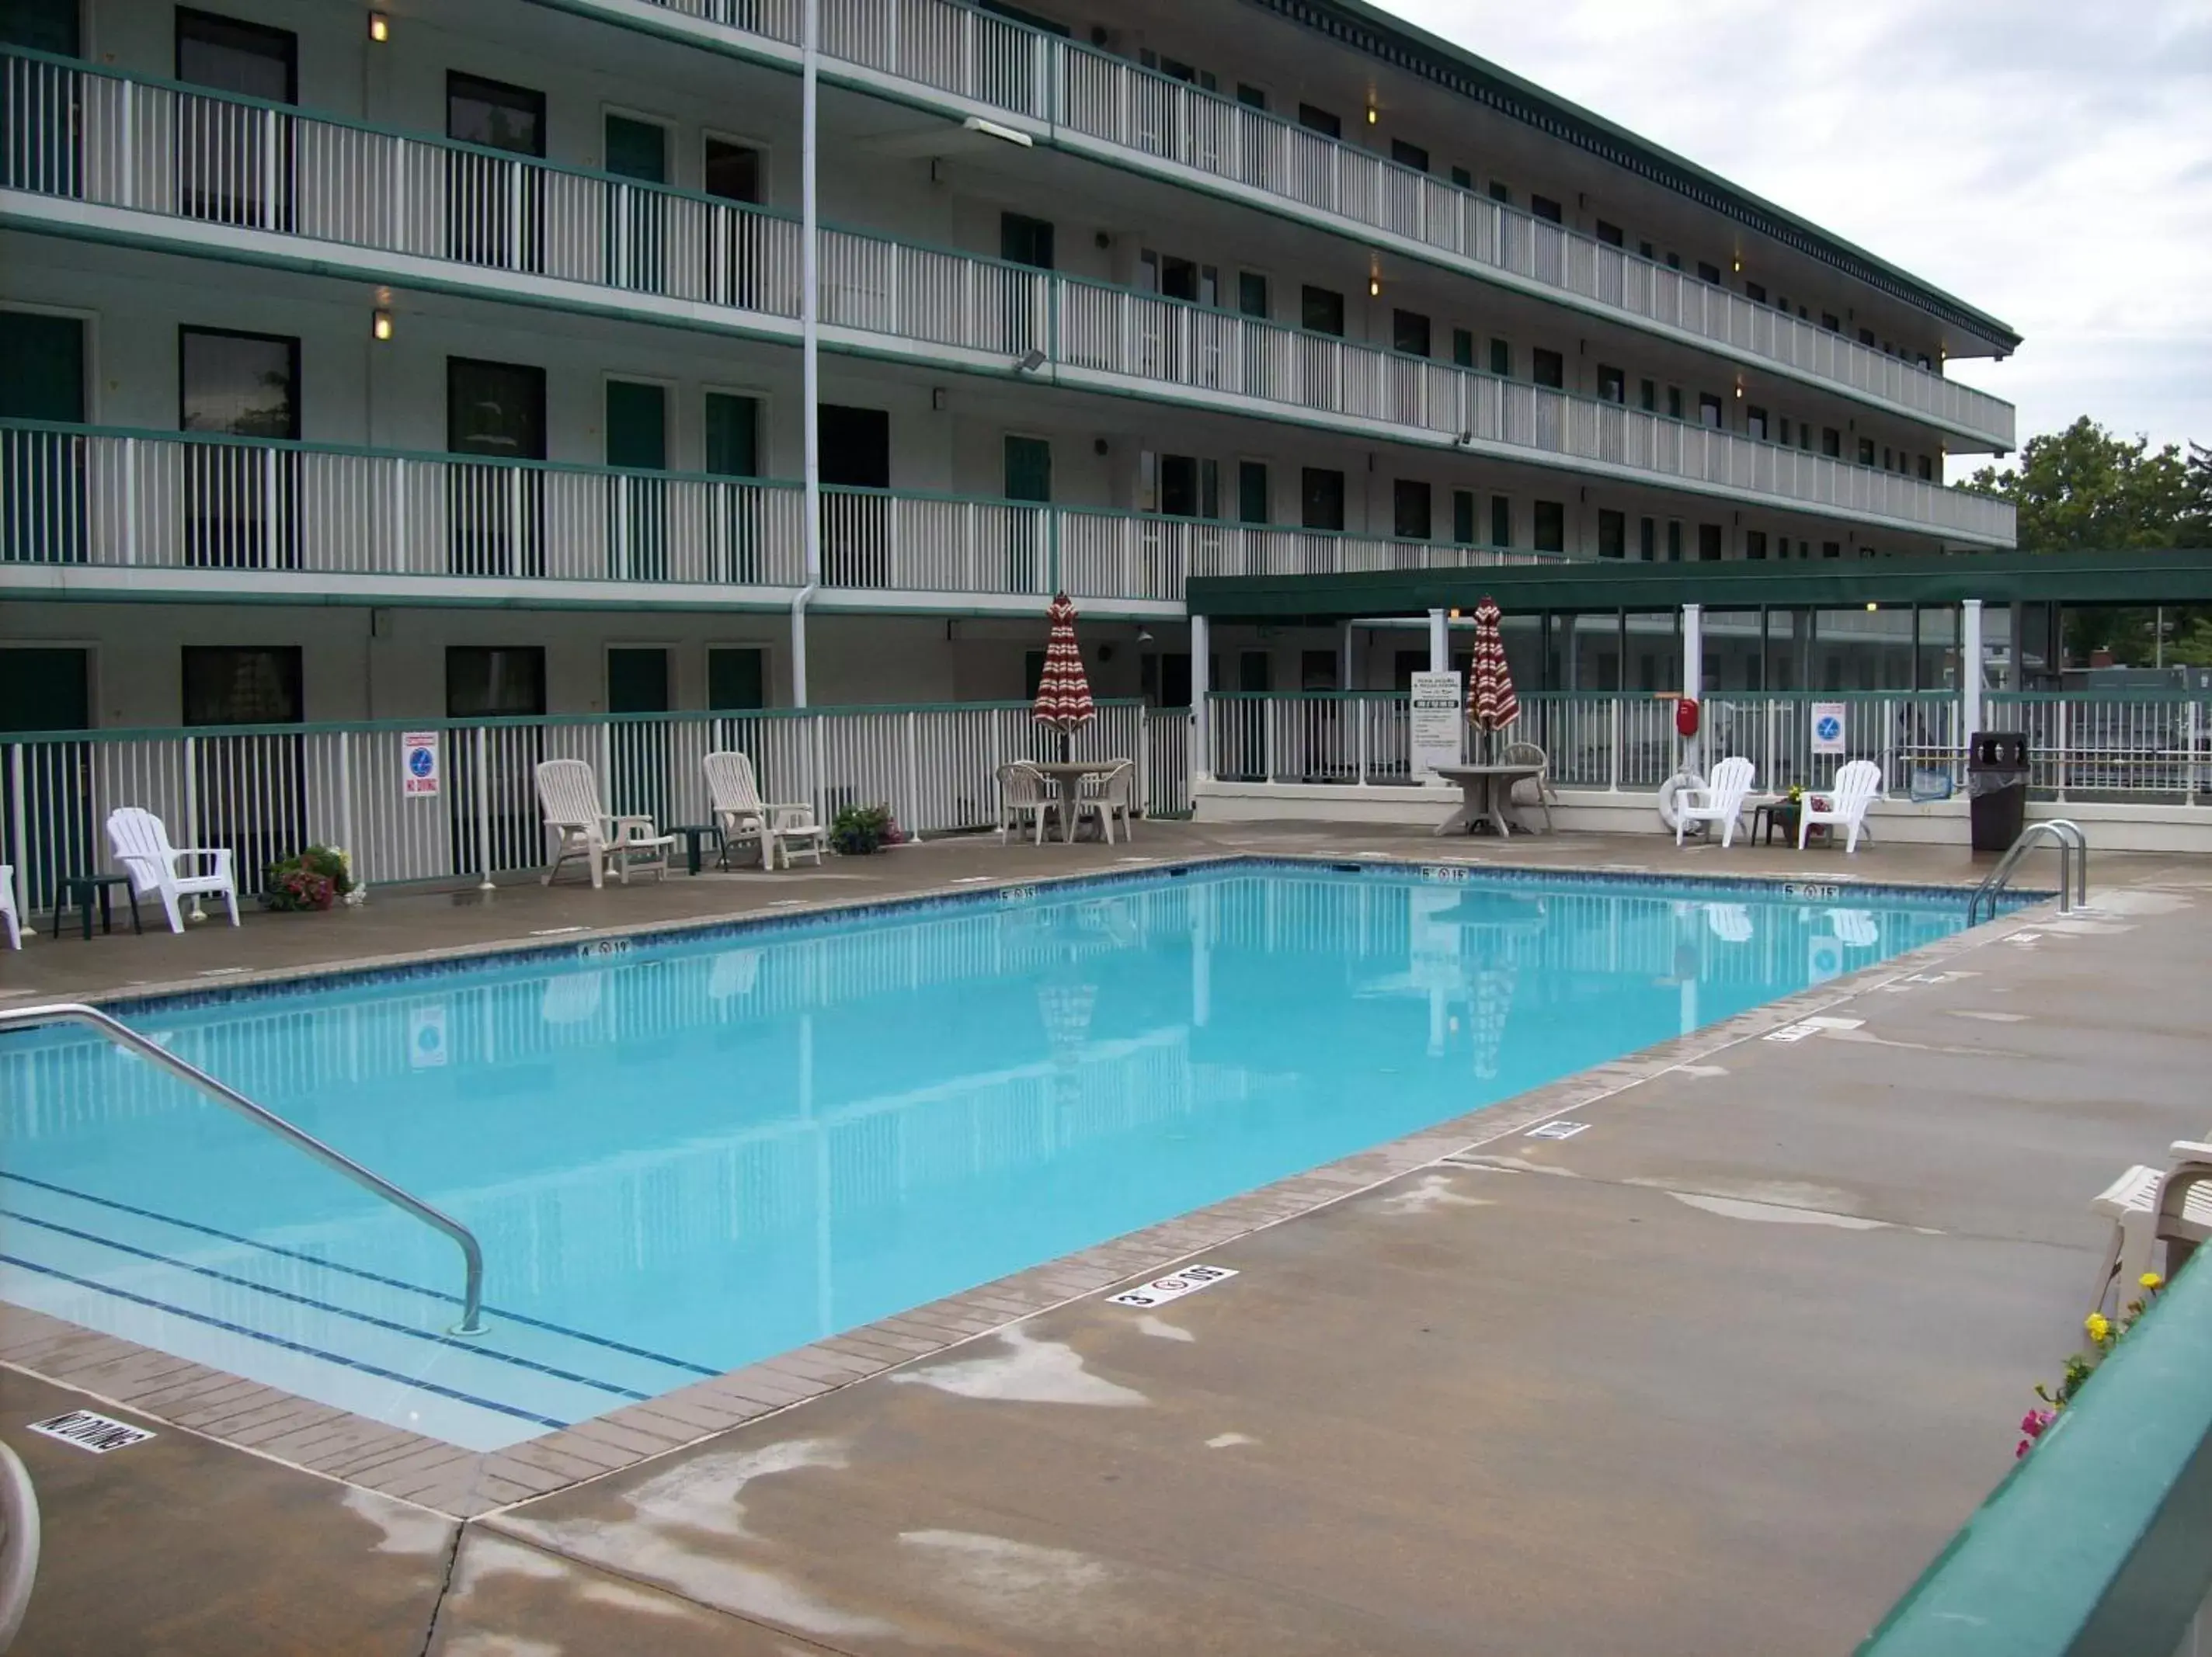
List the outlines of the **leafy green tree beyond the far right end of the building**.
{"label": "leafy green tree beyond the far right end of the building", "polygon": [[[1982,467],[1966,480],[2020,513],[2020,551],[2121,551],[2128,546],[2212,546],[2212,449],[2183,456],[2168,442],[2121,438],[2086,414],[2064,431],[2028,438],[2013,467]],[[2157,611],[2077,608],[2066,615],[2066,653],[2088,661],[2110,650],[2119,664],[2159,659]],[[2168,608],[2163,657],[2212,653],[2212,613]]]}

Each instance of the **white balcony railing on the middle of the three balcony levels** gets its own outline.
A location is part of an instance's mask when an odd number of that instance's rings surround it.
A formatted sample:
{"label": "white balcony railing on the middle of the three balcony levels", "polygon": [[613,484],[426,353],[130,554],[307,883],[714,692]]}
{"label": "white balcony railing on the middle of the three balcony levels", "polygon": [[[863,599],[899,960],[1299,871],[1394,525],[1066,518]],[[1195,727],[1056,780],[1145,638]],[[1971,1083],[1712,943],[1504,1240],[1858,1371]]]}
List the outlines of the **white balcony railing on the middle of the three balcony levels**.
{"label": "white balcony railing on the middle of the three balcony levels", "polygon": [[[973,13],[960,13],[973,15]],[[741,316],[799,312],[787,219],[442,139],[325,122],[0,58],[0,184],[228,230],[305,237],[462,268],[650,294]],[[372,274],[387,274],[376,259]],[[507,283],[487,283],[504,292]],[[1363,434],[1571,460],[1661,487],[1723,491],[1893,529],[2013,542],[2006,502],[1681,420],[1400,356],[1374,345],[832,230],[830,330],[940,363],[1006,372],[1029,352],[1060,378],[1141,396],[1279,411]],[[779,330],[787,332],[787,330]]]}

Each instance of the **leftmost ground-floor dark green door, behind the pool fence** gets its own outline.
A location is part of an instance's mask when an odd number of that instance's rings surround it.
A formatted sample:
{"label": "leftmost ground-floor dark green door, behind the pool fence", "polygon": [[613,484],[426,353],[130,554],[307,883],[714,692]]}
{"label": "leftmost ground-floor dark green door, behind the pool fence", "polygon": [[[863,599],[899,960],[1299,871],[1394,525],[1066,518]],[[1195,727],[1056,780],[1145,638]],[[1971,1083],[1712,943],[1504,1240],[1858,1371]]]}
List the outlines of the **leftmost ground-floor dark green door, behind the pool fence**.
{"label": "leftmost ground-floor dark green door, behind the pool fence", "polygon": [[[91,730],[91,653],[69,648],[0,648],[0,732]],[[22,750],[24,810],[15,810],[15,772],[0,772],[4,823],[24,823],[24,845],[7,841],[0,863],[22,869],[31,909],[53,907],[55,885],[71,874],[102,872],[100,825],[93,821],[91,743],[49,741]]]}

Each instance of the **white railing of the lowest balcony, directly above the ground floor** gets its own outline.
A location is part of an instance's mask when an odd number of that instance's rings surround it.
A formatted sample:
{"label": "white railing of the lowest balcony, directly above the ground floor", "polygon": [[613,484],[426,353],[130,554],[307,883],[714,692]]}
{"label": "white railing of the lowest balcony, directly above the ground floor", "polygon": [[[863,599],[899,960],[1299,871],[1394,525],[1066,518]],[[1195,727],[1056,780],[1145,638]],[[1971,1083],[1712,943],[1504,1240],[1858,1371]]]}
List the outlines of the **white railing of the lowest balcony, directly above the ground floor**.
{"label": "white railing of the lowest balcony, directly above the ground floor", "polygon": [[[805,580],[803,529],[794,482],[0,420],[0,566],[790,591]],[[1188,575],[1542,562],[838,487],[823,489],[821,542],[830,588],[1164,604]]]}

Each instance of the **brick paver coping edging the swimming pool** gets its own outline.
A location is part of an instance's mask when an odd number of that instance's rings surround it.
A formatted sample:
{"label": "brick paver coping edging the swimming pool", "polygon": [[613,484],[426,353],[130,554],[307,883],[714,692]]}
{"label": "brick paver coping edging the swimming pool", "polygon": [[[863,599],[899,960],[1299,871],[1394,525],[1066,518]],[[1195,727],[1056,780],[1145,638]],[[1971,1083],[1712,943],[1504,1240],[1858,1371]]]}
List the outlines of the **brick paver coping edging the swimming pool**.
{"label": "brick paver coping edging the swimming pool", "polygon": [[[1009,885],[1040,889],[1108,885],[1128,878],[1157,878],[1172,869],[1219,867],[1225,863],[1252,867],[1316,863],[1352,867],[1343,858],[1327,856],[1239,854],[1188,858],[1128,872],[1011,880]],[[1484,878],[1573,878],[1593,885],[1637,883],[1668,887],[1686,883],[1683,876],[1637,876],[1610,869],[1562,872],[1531,865],[1453,863],[1444,858],[1367,858],[1358,867],[1400,876],[1420,869],[1451,869],[1455,878],[1460,869],[1480,869]],[[1759,896],[1770,887],[1785,885],[1785,880],[1743,876],[1734,880],[1701,880],[1690,876],[1688,883],[1743,887]],[[1000,887],[982,887],[975,892],[922,894],[858,905],[825,903],[803,911],[765,916],[763,920],[770,925],[790,925],[794,920],[821,918],[823,914],[854,916],[885,907],[938,907],[942,903],[991,900],[998,892]],[[1849,892],[1924,900],[1929,896],[1960,896],[1964,887],[1849,883]],[[2039,898],[2055,894],[2022,896],[2028,898],[2026,907],[2008,909],[1993,923],[1938,938],[1825,984],[1796,991],[1794,996],[1763,1002],[1690,1035],[1677,1035],[1619,1060],[1546,1082],[1511,1100],[1500,1100],[1498,1104],[1469,1111],[1398,1139],[1387,1139],[1349,1157],[1338,1157],[1318,1168],[1190,1210],[1188,1215],[1110,1237],[1073,1254],[1062,1254],[1060,1259],[1042,1261],[991,1283],[962,1290],[960,1294],[909,1307],[876,1323],[781,1352],[743,1369],[697,1380],[657,1398],[624,1405],[495,1451],[462,1449],[440,1438],[392,1427],[301,1398],[281,1387],[246,1380],[122,1336],[100,1334],[64,1319],[7,1303],[0,1303],[0,1369],[15,1369],[88,1394],[97,1403],[155,1425],[155,1429],[175,1427],[192,1431],[248,1453],[411,1502],[456,1520],[482,1518],[538,1496],[626,1471],[668,1451],[714,1438],[732,1427],[743,1427],[812,1398],[858,1385],[860,1380],[933,1358],[1057,1305],[1091,1299],[1121,1283],[1157,1276],[1192,1254],[1347,1201],[1391,1179],[1433,1168],[1449,1157],[1464,1157],[1484,1144],[1526,1133],[1548,1117],[1586,1111],[1679,1064],[1761,1038],[1847,1002],[1882,982],[1924,971],[1936,962],[2004,940],[2022,927],[2035,927],[2046,920],[2042,914],[2046,905]],[[646,936],[717,936],[739,929],[750,927],[743,923],[710,927],[699,927],[697,923],[659,923],[639,927],[630,936],[637,931]],[[509,953],[535,958],[546,951],[511,951],[493,945],[460,953],[458,958],[440,956],[436,965],[451,971],[460,965],[482,965],[487,956],[498,958]],[[301,978],[354,982],[374,976],[385,973],[358,967],[343,969],[341,973],[292,971],[254,984],[226,984],[223,991],[208,993],[208,1000],[232,1000],[239,991],[268,991],[276,984],[296,987]],[[139,1007],[142,1000],[153,1000],[161,1007],[173,1004],[164,996],[115,1000],[126,1000],[131,1007]]]}

